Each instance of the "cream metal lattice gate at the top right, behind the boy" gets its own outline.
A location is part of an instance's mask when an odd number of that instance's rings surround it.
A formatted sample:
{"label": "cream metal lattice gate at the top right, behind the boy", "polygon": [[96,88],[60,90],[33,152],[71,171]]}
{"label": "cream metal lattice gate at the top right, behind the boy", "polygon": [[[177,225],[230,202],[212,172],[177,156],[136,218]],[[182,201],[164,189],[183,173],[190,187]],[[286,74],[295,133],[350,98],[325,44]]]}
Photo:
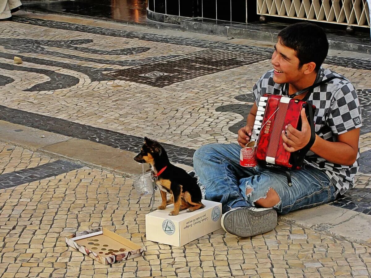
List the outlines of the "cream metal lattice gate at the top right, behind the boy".
{"label": "cream metal lattice gate at the top right, behind the boy", "polygon": [[369,27],[367,0],[257,0],[257,13]]}

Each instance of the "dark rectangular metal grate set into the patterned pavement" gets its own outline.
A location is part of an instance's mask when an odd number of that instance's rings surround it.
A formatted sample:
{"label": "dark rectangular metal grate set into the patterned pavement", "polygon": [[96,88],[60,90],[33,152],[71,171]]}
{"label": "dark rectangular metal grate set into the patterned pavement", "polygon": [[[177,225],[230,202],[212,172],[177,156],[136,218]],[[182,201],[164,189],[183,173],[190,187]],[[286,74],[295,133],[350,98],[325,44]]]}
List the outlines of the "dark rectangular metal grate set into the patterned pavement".
{"label": "dark rectangular metal grate set into the patterned pavement", "polygon": [[184,56],[166,57],[160,62],[116,70],[105,73],[105,75],[154,87],[164,87],[266,59],[266,56],[210,49]]}

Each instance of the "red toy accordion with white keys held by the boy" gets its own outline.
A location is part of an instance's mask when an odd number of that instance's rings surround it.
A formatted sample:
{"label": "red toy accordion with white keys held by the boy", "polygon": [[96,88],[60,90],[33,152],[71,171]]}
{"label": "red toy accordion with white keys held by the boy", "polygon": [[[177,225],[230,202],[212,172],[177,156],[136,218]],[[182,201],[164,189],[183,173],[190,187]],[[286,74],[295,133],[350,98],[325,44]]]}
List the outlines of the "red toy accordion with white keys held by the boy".
{"label": "red toy accordion with white keys held by the boy", "polygon": [[[311,140],[305,148],[288,152],[283,148],[281,133],[287,125],[301,130],[302,108],[305,108],[311,125]],[[315,130],[313,112],[316,107],[308,102],[281,95],[265,94],[260,97],[251,140],[256,142],[256,159],[270,164],[297,169],[302,165],[305,154],[313,145]]]}

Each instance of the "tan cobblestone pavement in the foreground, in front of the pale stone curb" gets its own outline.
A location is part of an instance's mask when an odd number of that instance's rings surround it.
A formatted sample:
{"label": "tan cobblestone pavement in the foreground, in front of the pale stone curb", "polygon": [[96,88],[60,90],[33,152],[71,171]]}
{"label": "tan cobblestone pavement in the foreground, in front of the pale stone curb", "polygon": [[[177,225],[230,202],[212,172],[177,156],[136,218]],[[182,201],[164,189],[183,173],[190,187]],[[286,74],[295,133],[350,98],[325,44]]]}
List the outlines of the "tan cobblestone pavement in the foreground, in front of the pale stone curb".
{"label": "tan cobblestone pavement in the foreground, in front of the pale stone curb", "polygon": [[[0,146],[24,168],[30,156],[50,161]],[[87,167],[0,189],[0,277],[370,277],[370,247],[283,222],[246,239],[220,229],[181,248],[146,241],[150,199],[134,192],[131,179]],[[65,235],[97,226],[144,246],[144,257],[104,266],[66,246]]]}

